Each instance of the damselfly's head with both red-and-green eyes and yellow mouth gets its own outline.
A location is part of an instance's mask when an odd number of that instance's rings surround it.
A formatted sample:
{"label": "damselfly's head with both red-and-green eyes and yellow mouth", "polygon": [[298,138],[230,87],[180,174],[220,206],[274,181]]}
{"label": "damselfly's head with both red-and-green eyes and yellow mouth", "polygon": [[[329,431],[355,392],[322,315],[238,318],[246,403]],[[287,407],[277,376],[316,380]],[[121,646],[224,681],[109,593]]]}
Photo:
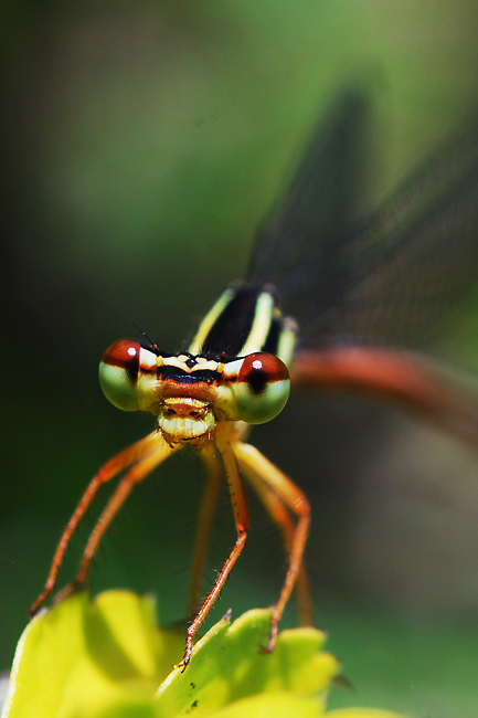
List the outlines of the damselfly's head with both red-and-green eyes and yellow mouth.
{"label": "damselfly's head with both red-and-green eyes and yellow mouth", "polygon": [[198,445],[209,441],[219,421],[270,421],[290,390],[286,365],[267,352],[221,362],[190,353],[162,356],[130,339],[106,350],[99,383],[118,409],[155,414],[169,443]]}

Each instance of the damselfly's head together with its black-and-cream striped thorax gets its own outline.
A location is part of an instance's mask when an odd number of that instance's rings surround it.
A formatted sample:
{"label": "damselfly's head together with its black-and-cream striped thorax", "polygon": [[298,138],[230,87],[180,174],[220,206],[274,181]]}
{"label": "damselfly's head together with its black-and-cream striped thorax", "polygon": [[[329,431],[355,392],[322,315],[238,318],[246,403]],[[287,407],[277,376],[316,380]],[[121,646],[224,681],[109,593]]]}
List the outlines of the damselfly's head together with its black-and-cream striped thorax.
{"label": "damselfly's head together with its black-and-cream striped thorax", "polygon": [[[230,342],[227,328],[241,347]],[[105,352],[99,382],[118,409],[157,416],[169,444],[202,446],[219,422],[263,424],[284,409],[290,390],[285,361],[295,335],[295,323],[282,316],[270,289],[234,286],[205,316],[190,350],[171,356],[121,339]]]}

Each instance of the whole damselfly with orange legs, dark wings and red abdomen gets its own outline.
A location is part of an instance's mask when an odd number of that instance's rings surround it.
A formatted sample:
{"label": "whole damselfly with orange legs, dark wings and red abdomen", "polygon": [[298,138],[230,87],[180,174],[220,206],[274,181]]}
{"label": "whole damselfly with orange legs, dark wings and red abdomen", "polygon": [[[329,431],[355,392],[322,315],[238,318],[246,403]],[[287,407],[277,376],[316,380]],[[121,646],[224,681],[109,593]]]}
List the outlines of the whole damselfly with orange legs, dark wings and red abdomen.
{"label": "whole damselfly with orange legs, dark wings and red abdomen", "polygon": [[171,355],[156,344],[130,339],[107,349],[99,366],[104,393],[119,409],[152,413],[157,426],[111,458],[88,485],[32,615],[55,588],[72,534],[99,486],[124,472],[87,541],[76,579],[57,599],[84,585],[98,545],[135,484],[190,445],[209,475],[191,605],[199,596],[224,474],[237,540],[189,626],[181,665],[190,662],[193,637],[246,539],[243,477],[280,529],[289,561],[273,606],[265,647],[272,651],[295,585],[301,619],[310,622],[302,561],[310,509],[304,493],[246,437],[251,425],[282,411],[290,381],[375,394],[413,408],[465,439],[478,436],[474,399],[460,391],[453,374],[411,349],[450,298],[477,278],[478,128],[442,151],[397,198],[359,225],[351,221],[359,180],[350,168],[358,167],[365,117],[363,97],[344,93],[319,124],[283,201],[258,231],[247,281],[225,289],[188,350]]}

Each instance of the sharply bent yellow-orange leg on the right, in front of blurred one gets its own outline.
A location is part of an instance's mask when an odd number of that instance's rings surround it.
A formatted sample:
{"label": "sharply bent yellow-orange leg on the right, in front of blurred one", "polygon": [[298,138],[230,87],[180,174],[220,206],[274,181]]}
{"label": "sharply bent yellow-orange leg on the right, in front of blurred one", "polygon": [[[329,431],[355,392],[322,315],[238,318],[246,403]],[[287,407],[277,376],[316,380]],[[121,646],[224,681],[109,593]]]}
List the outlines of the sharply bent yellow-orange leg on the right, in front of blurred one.
{"label": "sharply bent yellow-orange leg on the right, in front of blurred one", "polygon": [[266,648],[269,652],[275,646],[277,640],[277,624],[283,615],[284,608],[300,572],[304,549],[309,532],[310,506],[299,487],[296,486],[276,466],[274,466],[274,464],[272,464],[265,456],[263,456],[257,448],[251,446],[251,444],[238,442],[234,444],[234,453],[237,457],[241,469],[244,471],[244,473],[255,473],[256,477],[277,494],[284,504],[286,504],[286,506],[294,511],[298,518],[294,536],[290,540],[289,568],[286,580],[279,600],[273,611],[270,642]]}

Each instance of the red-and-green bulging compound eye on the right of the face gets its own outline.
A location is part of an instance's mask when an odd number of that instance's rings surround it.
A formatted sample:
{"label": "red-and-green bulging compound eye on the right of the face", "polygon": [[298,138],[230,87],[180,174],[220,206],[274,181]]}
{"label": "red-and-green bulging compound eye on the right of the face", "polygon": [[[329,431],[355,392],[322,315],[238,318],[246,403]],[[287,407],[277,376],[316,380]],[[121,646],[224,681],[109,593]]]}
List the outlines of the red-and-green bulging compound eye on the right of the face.
{"label": "red-and-green bulging compound eye on the right of the face", "polygon": [[270,421],[286,405],[289,391],[289,372],[284,361],[265,352],[249,355],[242,363],[235,387],[242,421]]}

